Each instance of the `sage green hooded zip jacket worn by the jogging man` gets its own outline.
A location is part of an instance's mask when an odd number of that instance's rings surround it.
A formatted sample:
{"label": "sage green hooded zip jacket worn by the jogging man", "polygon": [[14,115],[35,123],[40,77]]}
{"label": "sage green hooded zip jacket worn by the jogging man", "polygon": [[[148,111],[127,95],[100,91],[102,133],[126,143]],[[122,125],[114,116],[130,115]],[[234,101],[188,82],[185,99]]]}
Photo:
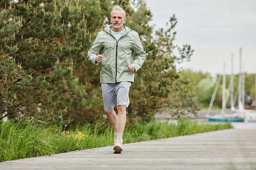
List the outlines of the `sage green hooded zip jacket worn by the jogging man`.
{"label": "sage green hooded zip jacket worn by the jogging man", "polygon": [[146,53],[141,45],[139,34],[127,26],[121,38],[117,41],[107,26],[100,31],[87,53],[87,58],[93,64],[97,54],[102,54],[100,83],[134,82],[135,73],[128,71],[128,65],[135,67],[135,72],[141,68]]}

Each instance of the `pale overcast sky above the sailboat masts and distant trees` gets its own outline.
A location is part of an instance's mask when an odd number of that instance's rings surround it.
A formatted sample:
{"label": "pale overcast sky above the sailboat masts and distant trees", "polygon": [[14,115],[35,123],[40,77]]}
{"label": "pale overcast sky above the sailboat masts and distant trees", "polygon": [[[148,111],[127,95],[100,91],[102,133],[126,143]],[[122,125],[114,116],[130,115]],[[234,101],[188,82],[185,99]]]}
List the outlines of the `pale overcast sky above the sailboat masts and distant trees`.
{"label": "pale overcast sky above the sailboat masts and distant trees", "polygon": [[[191,45],[191,61],[177,68],[216,74],[256,73],[256,0],[145,0],[151,25],[166,28],[175,14],[175,44]],[[225,68],[224,68],[225,63]]]}

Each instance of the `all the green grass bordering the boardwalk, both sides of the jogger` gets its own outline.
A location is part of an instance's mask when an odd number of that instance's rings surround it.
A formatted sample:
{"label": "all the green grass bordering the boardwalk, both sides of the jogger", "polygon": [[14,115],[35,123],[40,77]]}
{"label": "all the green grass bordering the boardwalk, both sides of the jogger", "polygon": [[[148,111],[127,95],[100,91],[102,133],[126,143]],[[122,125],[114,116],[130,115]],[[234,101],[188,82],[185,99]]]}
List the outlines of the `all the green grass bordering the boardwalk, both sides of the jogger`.
{"label": "all the green grass bordering the boardwalk, both sides of the jogger", "polygon": [[[183,119],[177,123],[141,121],[127,124],[123,135],[124,144],[191,135],[232,128],[230,123],[199,123]],[[70,132],[62,132],[56,126],[30,119],[13,123],[0,121],[0,162],[54,155],[74,150],[98,148],[113,145],[114,130],[108,126],[101,132],[97,126],[77,126]]]}

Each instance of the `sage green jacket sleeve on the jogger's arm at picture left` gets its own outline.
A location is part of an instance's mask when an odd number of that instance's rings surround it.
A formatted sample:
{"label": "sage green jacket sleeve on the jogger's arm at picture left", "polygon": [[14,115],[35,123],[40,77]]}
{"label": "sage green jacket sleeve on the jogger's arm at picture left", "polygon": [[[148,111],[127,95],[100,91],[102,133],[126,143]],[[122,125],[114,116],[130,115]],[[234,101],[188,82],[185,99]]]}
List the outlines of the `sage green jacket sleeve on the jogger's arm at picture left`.
{"label": "sage green jacket sleeve on the jogger's arm at picture left", "polygon": [[99,38],[100,38],[100,33],[98,33],[98,35],[96,36],[95,40],[94,40],[94,43],[92,44],[92,47],[91,49],[88,51],[87,53],[87,58],[88,60],[92,63],[92,64],[95,64],[95,65],[99,65],[99,62],[96,62],[96,56],[97,54],[100,54],[101,53],[101,46],[102,44],[100,43],[99,41]]}

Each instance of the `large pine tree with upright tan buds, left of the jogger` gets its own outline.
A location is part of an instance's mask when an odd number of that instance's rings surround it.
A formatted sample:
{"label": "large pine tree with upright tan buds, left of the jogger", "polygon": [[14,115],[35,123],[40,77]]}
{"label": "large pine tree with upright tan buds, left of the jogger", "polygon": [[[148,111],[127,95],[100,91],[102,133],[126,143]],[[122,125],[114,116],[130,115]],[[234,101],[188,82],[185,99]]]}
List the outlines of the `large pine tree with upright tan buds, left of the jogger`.
{"label": "large pine tree with upright tan buds, left of the jogger", "polygon": [[[85,115],[80,119],[92,119],[82,113],[90,108],[92,82],[81,83],[79,78],[96,34],[91,30],[103,25],[101,5],[108,9],[107,2],[0,2],[4,44],[0,51],[0,110],[4,117],[34,116],[68,124],[77,121],[73,115],[80,112]],[[99,17],[99,22],[90,17]]]}

